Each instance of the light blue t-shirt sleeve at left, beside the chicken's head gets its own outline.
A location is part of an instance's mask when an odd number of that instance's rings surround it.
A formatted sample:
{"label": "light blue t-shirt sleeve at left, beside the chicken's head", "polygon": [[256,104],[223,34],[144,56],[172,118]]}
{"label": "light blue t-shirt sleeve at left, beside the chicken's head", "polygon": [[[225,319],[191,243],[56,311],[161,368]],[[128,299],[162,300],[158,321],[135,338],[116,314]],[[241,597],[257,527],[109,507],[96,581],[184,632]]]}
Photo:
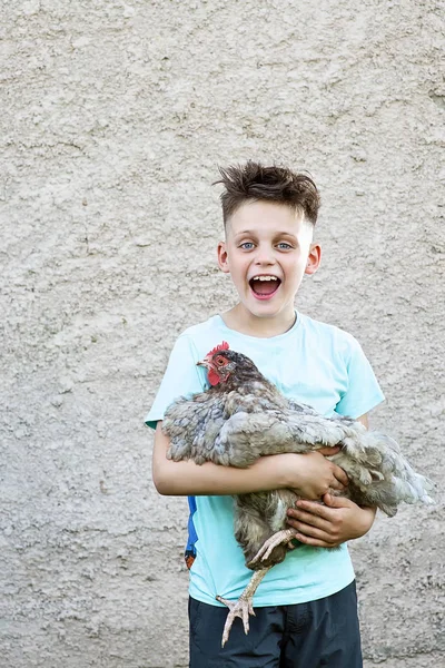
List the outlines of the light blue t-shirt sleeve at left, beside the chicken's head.
{"label": "light blue t-shirt sleeve at left, beside the chicken's head", "polygon": [[187,334],[181,334],[170,353],[166,373],[145,423],[156,429],[167,407],[179,396],[190,396],[206,387],[206,375],[199,362],[198,351]]}

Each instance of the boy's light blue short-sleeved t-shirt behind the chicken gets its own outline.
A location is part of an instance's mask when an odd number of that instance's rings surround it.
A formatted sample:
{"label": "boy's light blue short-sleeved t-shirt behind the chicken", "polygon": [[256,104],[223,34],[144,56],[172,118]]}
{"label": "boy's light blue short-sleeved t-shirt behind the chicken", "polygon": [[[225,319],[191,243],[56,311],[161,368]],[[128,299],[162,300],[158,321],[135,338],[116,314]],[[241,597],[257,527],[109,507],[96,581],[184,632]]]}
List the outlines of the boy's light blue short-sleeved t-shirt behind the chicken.
{"label": "boy's light blue short-sleeved t-shirt behind the chicken", "polygon": [[[146,418],[156,428],[168,405],[208,387],[206,372],[196,366],[217,344],[248,355],[286,396],[314,406],[326,416],[335,412],[359,418],[384,399],[360,345],[350,334],[297,313],[285,334],[258,338],[229,330],[219,315],[186,330],[177,340],[158,394]],[[190,497],[188,550],[190,596],[221,606],[217,595],[238,599],[253,571],[245,566],[234,537],[231,497]],[[346,544],[329,550],[298,547],[266,574],[254,606],[283,606],[336,593],[354,579]]]}

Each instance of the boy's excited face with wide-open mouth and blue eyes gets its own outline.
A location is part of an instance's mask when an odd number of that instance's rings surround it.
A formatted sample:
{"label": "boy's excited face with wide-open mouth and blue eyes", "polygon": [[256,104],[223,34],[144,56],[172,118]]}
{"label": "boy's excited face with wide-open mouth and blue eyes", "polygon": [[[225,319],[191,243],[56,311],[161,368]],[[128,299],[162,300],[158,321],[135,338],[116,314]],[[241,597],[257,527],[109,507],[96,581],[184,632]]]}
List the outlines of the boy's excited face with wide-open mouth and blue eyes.
{"label": "boy's excited face with wide-open mouth and blue eyes", "polygon": [[230,274],[245,315],[290,322],[304,274],[314,274],[320,247],[300,212],[259,200],[244,204],[227,220],[218,264]]}

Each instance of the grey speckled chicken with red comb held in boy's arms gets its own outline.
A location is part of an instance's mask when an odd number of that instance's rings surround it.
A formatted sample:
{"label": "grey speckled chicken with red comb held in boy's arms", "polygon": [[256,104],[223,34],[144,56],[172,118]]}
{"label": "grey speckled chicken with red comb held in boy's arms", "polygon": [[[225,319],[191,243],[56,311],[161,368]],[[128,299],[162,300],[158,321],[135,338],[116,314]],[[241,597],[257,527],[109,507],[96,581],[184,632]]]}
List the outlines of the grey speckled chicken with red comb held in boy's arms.
{"label": "grey speckled chicken with red comb held in boy's arms", "polygon": [[[412,469],[392,438],[367,431],[349,418],[324,418],[310,406],[286,399],[251,360],[226,342],[198,364],[208,370],[210,387],[168,407],[162,431],[170,440],[169,459],[245,468],[263,455],[338,445],[340,451],[329,459],[347,473],[344,495],[358,505],[377,507],[393,517],[400,502],[433,502],[428,495],[432,483]],[[255,573],[238,601],[217,597],[229,608],[222,646],[236,617],[248,632],[259,582],[294,549],[296,531],[287,525],[286,512],[297,499],[290,490],[234,498],[235,537],[247,568]]]}

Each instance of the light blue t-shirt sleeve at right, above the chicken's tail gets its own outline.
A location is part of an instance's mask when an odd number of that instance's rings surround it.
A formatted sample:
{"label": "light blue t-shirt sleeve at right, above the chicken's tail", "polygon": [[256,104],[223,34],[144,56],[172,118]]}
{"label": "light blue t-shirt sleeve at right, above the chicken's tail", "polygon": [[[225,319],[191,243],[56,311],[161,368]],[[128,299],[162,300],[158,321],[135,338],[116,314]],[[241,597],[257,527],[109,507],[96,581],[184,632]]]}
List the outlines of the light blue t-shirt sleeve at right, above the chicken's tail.
{"label": "light blue t-shirt sleeve at right, above the chicken's tail", "polygon": [[335,412],[357,419],[378,405],[385,396],[360,344],[354,337],[350,337],[348,345],[346,369],[347,390]]}

